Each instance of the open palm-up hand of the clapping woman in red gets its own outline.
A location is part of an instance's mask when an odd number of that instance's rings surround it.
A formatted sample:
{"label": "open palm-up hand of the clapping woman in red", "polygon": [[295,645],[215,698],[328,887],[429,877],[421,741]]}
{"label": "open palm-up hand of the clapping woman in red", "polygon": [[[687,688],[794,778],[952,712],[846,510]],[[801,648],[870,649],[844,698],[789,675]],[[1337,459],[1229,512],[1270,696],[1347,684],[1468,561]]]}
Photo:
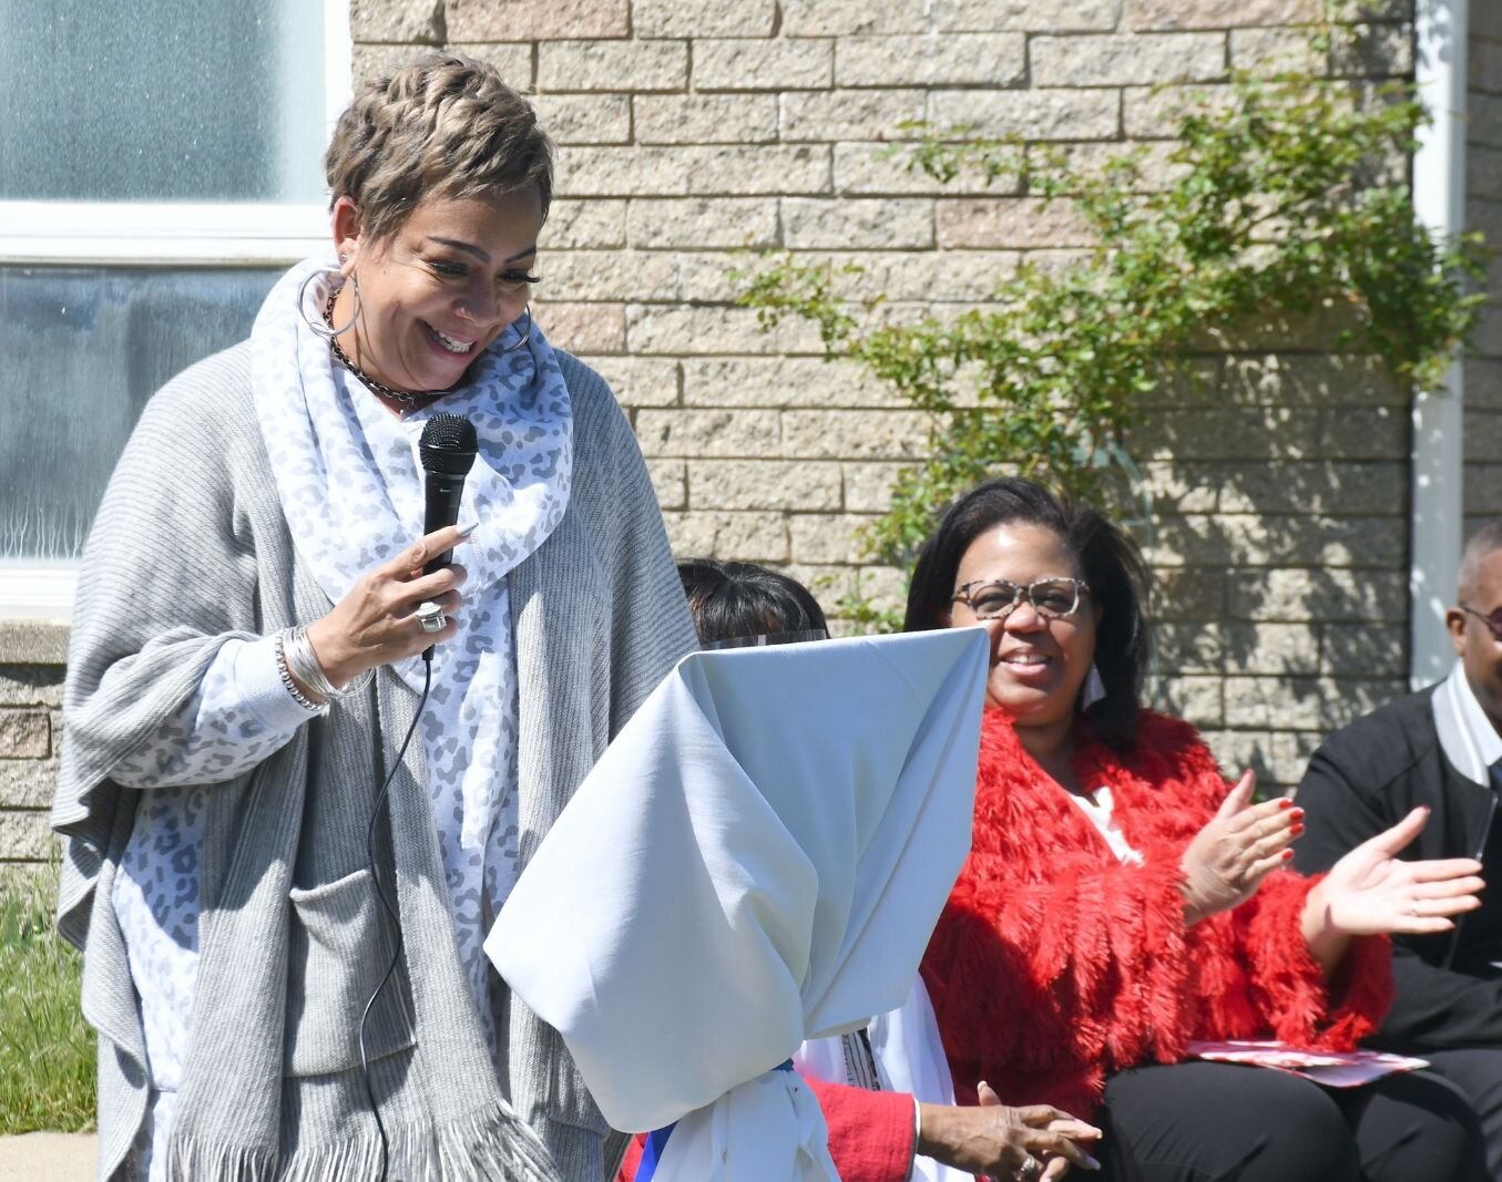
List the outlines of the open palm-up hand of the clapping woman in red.
{"label": "open palm-up hand of the clapping woman in red", "polygon": [[1470,858],[1406,862],[1398,858],[1428,822],[1427,808],[1361,843],[1329,868],[1304,904],[1304,937],[1331,972],[1352,936],[1431,936],[1455,927],[1451,916],[1481,906],[1481,864]]}

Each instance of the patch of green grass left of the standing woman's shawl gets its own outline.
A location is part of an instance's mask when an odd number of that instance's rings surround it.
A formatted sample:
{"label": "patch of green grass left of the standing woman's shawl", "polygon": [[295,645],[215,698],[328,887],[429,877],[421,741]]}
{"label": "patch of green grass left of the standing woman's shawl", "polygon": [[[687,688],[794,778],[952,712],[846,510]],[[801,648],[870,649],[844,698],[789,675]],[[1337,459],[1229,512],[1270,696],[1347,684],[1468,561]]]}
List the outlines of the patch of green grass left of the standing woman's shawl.
{"label": "patch of green grass left of the standing woman's shawl", "polygon": [[93,1128],[83,958],[53,928],[56,898],[56,868],[0,868],[0,1135]]}

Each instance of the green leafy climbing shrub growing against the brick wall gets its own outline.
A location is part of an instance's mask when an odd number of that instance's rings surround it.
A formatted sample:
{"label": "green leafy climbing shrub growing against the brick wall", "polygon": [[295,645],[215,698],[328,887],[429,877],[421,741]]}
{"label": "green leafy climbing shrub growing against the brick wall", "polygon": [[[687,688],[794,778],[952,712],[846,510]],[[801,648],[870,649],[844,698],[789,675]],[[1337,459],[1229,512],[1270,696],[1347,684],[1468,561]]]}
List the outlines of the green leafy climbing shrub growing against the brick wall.
{"label": "green leafy climbing shrub growing against the brick wall", "polygon": [[[1317,54],[1332,29],[1313,30]],[[889,323],[841,297],[838,267],[783,252],[742,273],[742,303],[763,327],[787,315],[817,324],[828,357],[859,362],[930,418],[931,454],[901,472],[862,535],[870,559],[909,569],[936,509],[990,476],[1119,491],[1145,395],[1259,320],[1319,312],[1335,326],[1329,348],[1374,354],[1415,387],[1445,371],[1475,324],[1481,249],[1476,237],[1436,240],[1413,213],[1404,165],[1427,119],[1413,87],[1239,72],[1221,96],[1187,105],[1155,183],[1145,147],[1080,168],[1065,152],[909,125],[925,137],[894,149],[910,168],[945,183],[1015,176],[1093,237],[1077,263],[999,281],[985,308]],[[1113,508],[1142,509],[1136,496]],[[870,604],[843,608],[892,623]]]}

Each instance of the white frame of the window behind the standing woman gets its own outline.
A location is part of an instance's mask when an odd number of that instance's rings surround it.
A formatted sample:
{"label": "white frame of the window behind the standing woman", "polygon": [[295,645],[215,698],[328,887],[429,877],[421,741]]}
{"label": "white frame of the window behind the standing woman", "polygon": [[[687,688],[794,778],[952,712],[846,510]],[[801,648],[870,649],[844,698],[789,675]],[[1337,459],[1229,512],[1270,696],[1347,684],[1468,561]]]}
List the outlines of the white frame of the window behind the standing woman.
{"label": "white frame of the window behind the standing woman", "polygon": [[[324,141],[351,95],[350,0],[323,2]],[[327,204],[0,201],[0,263],[288,266],[330,246]],[[0,620],[68,625],[77,562],[0,560]]]}

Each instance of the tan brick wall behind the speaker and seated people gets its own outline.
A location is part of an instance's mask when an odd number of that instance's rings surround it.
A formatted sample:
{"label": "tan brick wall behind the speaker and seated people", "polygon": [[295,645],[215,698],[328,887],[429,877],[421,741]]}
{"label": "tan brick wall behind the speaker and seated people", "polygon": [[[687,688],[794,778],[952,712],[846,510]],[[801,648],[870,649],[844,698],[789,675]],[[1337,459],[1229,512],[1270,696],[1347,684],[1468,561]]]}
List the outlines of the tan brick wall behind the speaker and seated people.
{"label": "tan brick wall behind the speaker and seated people", "polygon": [[[903,120],[1102,153],[1166,134],[1178,87],[1305,53],[1319,0],[351,0],[356,72],[452,45],[535,96],[560,150],[538,318],[611,381],[679,554],[787,565],[826,604],[895,601],[855,529],[921,418],[790,324],[757,330],[746,248],[853,261],[883,315],[984,302],[1078,230],[1026,192],[882,150]],[[1502,240],[1502,29],[1472,5],[1472,216]],[[1340,77],[1406,74],[1410,5],[1337,38]],[[1164,86],[1167,84],[1167,86]],[[1487,105],[1490,104],[1490,105]],[[1488,114],[1490,113],[1490,114]],[[1487,228],[1484,225],[1484,228]],[[1502,305],[1467,389],[1467,505],[1502,508]],[[1317,326],[1265,326],[1163,390],[1131,439],[1157,508],[1160,701],[1221,757],[1296,781],[1319,736],[1404,689],[1407,395]],[[1485,350],[1482,350],[1485,351]],[[0,644],[0,858],[45,847],[59,644]],[[45,644],[42,646],[45,647]],[[17,653],[21,653],[17,656]],[[30,653],[30,655],[27,655]],[[32,664],[27,664],[32,662]]]}

